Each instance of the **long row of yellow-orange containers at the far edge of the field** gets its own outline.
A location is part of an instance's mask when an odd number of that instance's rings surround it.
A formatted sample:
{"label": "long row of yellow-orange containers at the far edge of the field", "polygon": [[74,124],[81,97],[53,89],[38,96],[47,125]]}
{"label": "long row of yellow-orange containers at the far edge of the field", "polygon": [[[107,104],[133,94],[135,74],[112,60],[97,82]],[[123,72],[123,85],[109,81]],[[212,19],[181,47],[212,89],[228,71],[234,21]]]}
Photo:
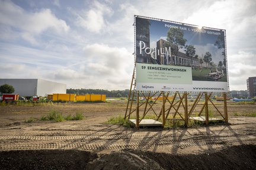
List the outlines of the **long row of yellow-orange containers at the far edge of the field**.
{"label": "long row of yellow-orange containers at the far edge of the field", "polygon": [[66,101],[66,102],[105,102],[106,96],[105,94],[84,94],[84,95],[76,95],[76,94],[49,94],[52,95],[53,101]]}

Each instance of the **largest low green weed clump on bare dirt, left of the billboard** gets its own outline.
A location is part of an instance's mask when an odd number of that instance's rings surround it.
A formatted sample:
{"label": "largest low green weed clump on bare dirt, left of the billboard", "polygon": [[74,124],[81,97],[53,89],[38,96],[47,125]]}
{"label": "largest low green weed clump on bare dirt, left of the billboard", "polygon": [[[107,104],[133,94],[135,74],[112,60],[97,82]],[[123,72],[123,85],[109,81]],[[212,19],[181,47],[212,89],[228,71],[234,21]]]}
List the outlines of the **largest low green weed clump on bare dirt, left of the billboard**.
{"label": "largest low green weed clump on bare dirt, left of the billboard", "polygon": [[42,116],[41,120],[55,120],[56,122],[63,122],[64,120],[82,120],[84,119],[84,115],[80,112],[76,112],[75,115],[69,114],[68,116],[64,117],[62,113],[57,110],[51,110],[47,116]]}

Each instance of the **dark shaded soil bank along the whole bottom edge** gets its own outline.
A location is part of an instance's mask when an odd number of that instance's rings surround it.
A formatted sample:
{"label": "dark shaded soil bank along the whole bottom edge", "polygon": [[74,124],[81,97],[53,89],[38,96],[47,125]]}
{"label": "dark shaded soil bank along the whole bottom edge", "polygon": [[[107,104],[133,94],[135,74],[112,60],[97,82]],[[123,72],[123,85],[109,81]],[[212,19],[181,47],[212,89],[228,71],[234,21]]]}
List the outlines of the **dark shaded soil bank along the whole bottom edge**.
{"label": "dark shaded soil bank along the whole bottom edge", "polygon": [[199,155],[76,150],[2,151],[0,169],[255,169],[256,146],[232,146]]}

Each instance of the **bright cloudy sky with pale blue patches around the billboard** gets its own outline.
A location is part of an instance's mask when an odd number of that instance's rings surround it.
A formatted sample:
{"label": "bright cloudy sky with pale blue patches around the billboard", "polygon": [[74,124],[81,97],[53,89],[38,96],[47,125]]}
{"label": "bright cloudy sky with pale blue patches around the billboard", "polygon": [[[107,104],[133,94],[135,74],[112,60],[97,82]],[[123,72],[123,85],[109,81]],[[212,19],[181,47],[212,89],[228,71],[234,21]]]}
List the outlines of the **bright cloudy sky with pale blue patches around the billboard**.
{"label": "bright cloudy sky with pale blue patches around the billboard", "polygon": [[230,90],[256,76],[254,0],[0,0],[0,78],[129,89],[134,15],[226,30]]}

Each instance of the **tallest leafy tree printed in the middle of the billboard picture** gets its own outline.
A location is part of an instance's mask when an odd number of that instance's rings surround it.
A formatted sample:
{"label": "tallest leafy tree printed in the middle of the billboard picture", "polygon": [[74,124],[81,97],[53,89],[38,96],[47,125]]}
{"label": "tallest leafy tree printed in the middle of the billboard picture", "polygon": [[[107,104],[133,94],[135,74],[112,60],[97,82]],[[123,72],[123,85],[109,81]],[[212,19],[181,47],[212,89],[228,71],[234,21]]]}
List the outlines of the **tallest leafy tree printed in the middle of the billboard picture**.
{"label": "tallest leafy tree printed in the middle of the billboard picture", "polygon": [[[187,41],[184,37],[184,32],[177,28],[170,28],[167,32],[167,41],[174,52],[174,55],[178,56],[178,51],[183,48]],[[172,62],[172,60],[171,60]],[[172,63],[171,63],[172,64]]]}

